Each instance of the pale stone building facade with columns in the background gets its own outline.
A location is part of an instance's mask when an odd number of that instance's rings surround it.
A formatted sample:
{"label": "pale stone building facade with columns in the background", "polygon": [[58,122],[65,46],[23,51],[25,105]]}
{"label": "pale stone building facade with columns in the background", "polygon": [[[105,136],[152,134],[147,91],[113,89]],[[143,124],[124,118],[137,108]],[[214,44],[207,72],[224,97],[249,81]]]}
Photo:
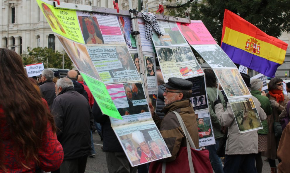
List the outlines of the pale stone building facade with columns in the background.
{"label": "pale stone building facade with columns in the background", "polygon": [[[60,0],[74,4],[84,4],[92,6],[100,6],[113,8],[110,0]],[[157,11],[158,5],[162,0],[143,0],[143,4],[148,4],[148,10]],[[182,0],[186,1],[186,0]],[[0,47],[15,50],[18,54],[27,52],[27,47],[51,47],[58,51],[63,51],[61,43],[54,36],[49,24],[35,0],[0,0],[2,8],[0,8]],[[119,0],[119,8],[123,10],[129,9],[128,0]],[[172,0],[171,4],[175,4],[177,0]],[[180,2],[180,0],[178,1]],[[132,0],[134,9],[138,7],[138,0]],[[286,43],[289,43],[290,34],[283,33],[280,37]],[[202,66],[207,66],[203,64]],[[284,63],[278,68],[276,76],[285,77],[290,74],[290,50],[286,52]],[[251,76],[255,75],[253,72]]]}

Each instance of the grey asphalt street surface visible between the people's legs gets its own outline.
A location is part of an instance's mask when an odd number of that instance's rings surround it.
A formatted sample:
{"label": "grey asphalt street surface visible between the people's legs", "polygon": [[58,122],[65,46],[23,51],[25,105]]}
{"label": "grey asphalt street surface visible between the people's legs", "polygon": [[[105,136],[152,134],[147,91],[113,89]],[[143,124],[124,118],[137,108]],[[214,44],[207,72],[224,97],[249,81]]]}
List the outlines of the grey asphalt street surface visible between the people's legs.
{"label": "grey asphalt street surface visible between the people's legs", "polygon": [[[93,133],[94,147],[96,155],[94,157],[88,157],[86,173],[108,173],[108,168],[106,164],[106,155],[105,152],[101,150],[103,141],[100,140],[100,136],[97,131]],[[263,170],[262,173],[271,172],[269,162],[264,161],[266,157],[262,157],[263,160]],[[278,165],[278,160],[276,159],[276,165]]]}

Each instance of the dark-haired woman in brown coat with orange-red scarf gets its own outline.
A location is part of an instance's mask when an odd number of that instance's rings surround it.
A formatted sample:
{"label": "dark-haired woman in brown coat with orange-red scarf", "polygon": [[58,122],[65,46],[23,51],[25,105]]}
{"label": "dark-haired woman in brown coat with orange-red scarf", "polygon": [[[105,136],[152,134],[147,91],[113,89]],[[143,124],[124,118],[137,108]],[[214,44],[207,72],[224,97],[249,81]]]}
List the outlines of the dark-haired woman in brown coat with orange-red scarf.
{"label": "dark-haired woman in brown coat with orange-red scarf", "polygon": [[[279,114],[286,108],[289,98],[287,95],[283,94],[283,80],[281,78],[272,78],[268,84],[269,93],[267,97],[270,99],[272,105],[272,114],[267,116],[269,133],[267,136],[268,150],[263,153],[265,157],[269,160],[269,165],[271,167],[271,173],[276,173],[276,159],[277,159],[277,148],[281,136],[275,137],[273,122],[278,121]],[[281,160],[279,160],[280,162]]]}

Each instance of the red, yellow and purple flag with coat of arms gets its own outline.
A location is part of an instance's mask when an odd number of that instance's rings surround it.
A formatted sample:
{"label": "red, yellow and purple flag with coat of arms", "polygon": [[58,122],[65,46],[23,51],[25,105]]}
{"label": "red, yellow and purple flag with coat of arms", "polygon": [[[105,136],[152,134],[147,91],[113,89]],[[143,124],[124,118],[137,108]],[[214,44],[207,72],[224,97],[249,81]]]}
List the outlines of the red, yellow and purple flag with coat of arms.
{"label": "red, yellow and purple flag with coat of arms", "polygon": [[288,46],[228,10],[225,10],[221,41],[221,48],[234,63],[269,77],[275,77]]}

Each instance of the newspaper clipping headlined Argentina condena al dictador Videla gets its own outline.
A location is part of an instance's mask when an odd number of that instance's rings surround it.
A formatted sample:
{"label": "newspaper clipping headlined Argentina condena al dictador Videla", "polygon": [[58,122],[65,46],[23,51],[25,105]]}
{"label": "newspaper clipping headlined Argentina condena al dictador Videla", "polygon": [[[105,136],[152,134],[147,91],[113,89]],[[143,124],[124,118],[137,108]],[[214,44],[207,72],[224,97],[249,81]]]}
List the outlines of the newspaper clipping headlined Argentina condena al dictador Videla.
{"label": "newspaper clipping headlined Argentina condena al dictador Videla", "polygon": [[105,84],[141,80],[127,46],[88,46],[87,48]]}

